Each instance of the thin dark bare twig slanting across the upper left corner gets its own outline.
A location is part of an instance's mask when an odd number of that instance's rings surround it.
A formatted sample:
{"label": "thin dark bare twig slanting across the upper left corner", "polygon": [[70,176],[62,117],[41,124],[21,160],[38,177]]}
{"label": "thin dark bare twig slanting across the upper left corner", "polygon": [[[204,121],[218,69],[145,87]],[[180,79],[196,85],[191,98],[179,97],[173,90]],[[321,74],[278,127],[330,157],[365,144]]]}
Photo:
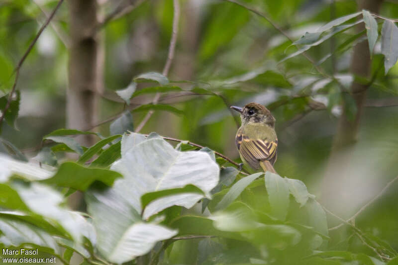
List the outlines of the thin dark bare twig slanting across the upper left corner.
{"label": "thin dark bare twig slanting across the upper left corner", "polygon": [[61,6],[62,2],[64,0],[59,0],[57,6],[55,6],[54,10],[51,12],[50,16],[47,18],[46,22],[41,26],[41,28],[39,29],[39,32],[37,32],[36,36],[34,37],[34,39],[32,40],[32,42],[29,44],[28,49],[26,50],[26,52],[23,54],[22,58],[19,60],[14,73],[15,73],[15,81],[14,84],[12,85],[12,89],[9,92],[8,95],[8,99],[7,99],[7,103],[5,104],[4,109],[2,110],[1,116],[0,116],[0,126],[1,123],[4,119],[5,113],[7,112],[10,104],[11,104],[11,100],[12,100],[12,95],[15,92],[15,88],[16,88],[16,83],[18,82],[18,77],[19,77],[19,70],[22,67],[23,62],[25,61],[26,57],[29,55],[30,51],[33,49],[33,46],[35,45],[36,41],[39,39],[41,33],[43,32],[43,30],[47,27],[47,25],[50,23],[51,19],[54,17],[55,13],[57,12],[58,8]]}

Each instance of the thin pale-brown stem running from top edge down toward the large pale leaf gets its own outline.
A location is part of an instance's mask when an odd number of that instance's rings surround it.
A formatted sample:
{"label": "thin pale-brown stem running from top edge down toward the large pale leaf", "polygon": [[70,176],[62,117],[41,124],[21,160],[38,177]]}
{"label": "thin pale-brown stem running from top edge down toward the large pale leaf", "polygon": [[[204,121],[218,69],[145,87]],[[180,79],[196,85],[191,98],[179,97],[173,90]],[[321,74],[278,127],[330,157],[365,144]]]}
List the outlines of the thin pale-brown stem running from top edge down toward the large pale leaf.
{"label": "thin pale-brown stem running from top edge down toward the large pale leaf", "polygon": [[[173,0],[173,5],[174,5],[173,32],[172,32],[171,39],[170,39],[169,53],[167,55],[166,64],[165,64],[165,67],[163,68],[163,73],[162,73],[165,77],[167,77],[167,75],[169,74],[170,66],[171,66],[171,63],[174,58],[174,51],[176,49],[177,36],[178,36],[178,23],[180,21],[179,0]],[[155,94],[155,96],[152,100],[152,103],[156,104],[159,101],[159,98],[160,98],[160,93],[158,92]],[[148,120],[151,118],[151,116],[154,112],[155,112],[154,110],[150,110],[150,111],[148,111],[148,113],[146,113],[144,119],[141,121],[141,123],[135,129],[135,132],[141,131],[142,127],[145,126],[145,124],[148,122]]]}

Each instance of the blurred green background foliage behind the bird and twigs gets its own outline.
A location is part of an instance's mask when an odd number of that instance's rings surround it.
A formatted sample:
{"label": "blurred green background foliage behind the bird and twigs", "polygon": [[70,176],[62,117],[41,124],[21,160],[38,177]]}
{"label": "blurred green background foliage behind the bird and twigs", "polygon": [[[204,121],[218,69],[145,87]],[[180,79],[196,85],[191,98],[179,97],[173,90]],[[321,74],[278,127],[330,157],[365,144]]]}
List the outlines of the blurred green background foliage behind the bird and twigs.
{"label": "blurred green background foliage behind the bird and twigs", "polygon": [[[103,19],[124,2],[99,0],[98,16]],[[380,2],[380,15],[398,17],[396,0]],[[265,12],[294,40],[359,8],[354,0],[247,0],[244,3]],[[14,67],[56,4],[53,0],[1,0],[1,96],[10,91]],[[159,103],[174,106],[181,113],[156,110],[141,132],[156,131],[163,136],[189,140],[239,162],[234,146],[236,117],[231,115],[228,106],[252,101],[262,103],[272,110],[277,120],[276,171],[281,176],[302,180],[309,192],[346,219],[397,175],[398,67],[395,65],[385,75],[380,38],[367,77],[355,76],[350,69],[353,47],[366,41],[365,31],[358,33],[350,27],[307,51],[324,73],[334,76],[346,88],[354,80],[361,84],[371,83],[360,118],[358,142],[350,153],[341,153],[350,163],[348,166],[332,165],[336,183],[329,185],[324,176],[330,165],[329,156],[343,102],[348,116],[354,117],[358,111],[352,95],[320,75],[314,64],[303,56],[284,60],[296,52],[297,47],[264,18],[246,8],[217,0],[181,0],[180,4],[177,46],[168,75],[171,83],[166,87],[173,85],[187,91],[162,93]],[[68,7],[67,3],[61,6],[21,68],[17,83],[21,99],[14,126],[2,123],[1,138],[28,158],[37,154],[44,135],[66,124],[71,45],[67,38],[70,30]],[[384,20],[377,21],[381,32]],[[132,79],[142,73],[162,72],[172,24],[172,0],[144,0],[130,12],[106,21],[97,29],[99,52],[103,53],[101,82],[105,88],[98,92],[97,122],[126,108],[116,90],[128,87]],[[154,86],[158,84],[138,83],[136,91]],[[205,88],[215,94],[190,92],[193,88]],[[153,93],[133,96],[127,107],[149,104],[153,96]],[[146,113],[132,112],[134,126]],[[109,123],[96,129],[102,135],[110,134]],[[57,156],[62,157],[58,153]],[[398,183],[395,183],[356,219],[362,231],[385,240],[395,250],[398,250],[397,190]],[[333,196],[325,195],[327,193]],[[329,226],[338,223],[339,220],[331,217]],[[330,249],[374,255],[350,233],[353,232],[347,228],[331,231]],[[181,246],[176,244],[176,248],[187,249],[186,253],[190,253],[188,249],[192,246],[189,244],[193,243],[179,241],[178,244]],[[179,263],[188,263],[189,259],[189,255],[176,258]]]}

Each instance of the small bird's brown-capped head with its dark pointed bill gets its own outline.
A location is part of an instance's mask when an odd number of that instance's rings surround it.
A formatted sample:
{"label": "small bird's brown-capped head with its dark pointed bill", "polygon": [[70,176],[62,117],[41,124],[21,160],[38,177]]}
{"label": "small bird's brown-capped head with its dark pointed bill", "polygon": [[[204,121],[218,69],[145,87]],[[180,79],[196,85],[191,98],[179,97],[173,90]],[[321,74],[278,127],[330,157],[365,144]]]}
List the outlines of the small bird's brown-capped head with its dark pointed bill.
{"label": "small bird's brown-capped head with its dark pointed bill", "polygon": [[264,123],[272,128],[275,127],[275,118],[272,116],[271,112],[259,103],[249,103],[243,108],[237,106],[231,106],[232,109],[240,112],[240,118],[242,124],[250,123]]}

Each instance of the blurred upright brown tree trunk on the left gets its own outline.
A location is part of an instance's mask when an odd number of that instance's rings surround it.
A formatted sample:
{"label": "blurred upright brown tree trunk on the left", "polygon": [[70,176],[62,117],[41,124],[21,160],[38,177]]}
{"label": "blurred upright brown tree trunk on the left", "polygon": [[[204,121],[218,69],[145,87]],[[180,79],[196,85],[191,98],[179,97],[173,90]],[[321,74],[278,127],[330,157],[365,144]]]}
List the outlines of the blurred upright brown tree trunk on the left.
{"label": "blurred upright brown tree trunk on the left", "polygon": [[[95,122],[99,74],[99,44],[96,37],[97,1],[69,0],[71,48],[69,51],[69,90],[67,93],[67,127],[84,130]],[[86,146],[93,137],[78,141]]]}

